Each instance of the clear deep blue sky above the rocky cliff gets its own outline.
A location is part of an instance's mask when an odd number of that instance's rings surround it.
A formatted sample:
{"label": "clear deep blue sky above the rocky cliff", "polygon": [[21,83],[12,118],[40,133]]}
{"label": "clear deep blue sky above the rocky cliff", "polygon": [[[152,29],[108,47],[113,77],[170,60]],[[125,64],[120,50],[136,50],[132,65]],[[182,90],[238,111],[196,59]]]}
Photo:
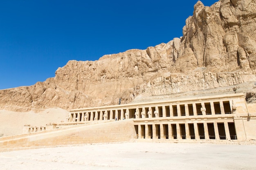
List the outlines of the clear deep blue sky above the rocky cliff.
{"label": "clear deep blue sky above the rocky cliff", "polygon": [[43,82],[69,60],[167,43],[182,36],[196,2],[1,0],[0,89]]}

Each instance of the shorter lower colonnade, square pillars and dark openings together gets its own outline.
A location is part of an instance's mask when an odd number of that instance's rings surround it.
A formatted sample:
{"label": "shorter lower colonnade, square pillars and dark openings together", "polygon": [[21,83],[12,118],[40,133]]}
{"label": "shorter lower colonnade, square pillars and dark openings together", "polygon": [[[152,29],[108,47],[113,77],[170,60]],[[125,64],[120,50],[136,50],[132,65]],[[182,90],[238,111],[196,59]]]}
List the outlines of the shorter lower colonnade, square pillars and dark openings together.
{"label": "shorter lower colonnade, square pillars and dark openings together", "polygon": [[232,120],[135,124],[139,139],[237,139]]}

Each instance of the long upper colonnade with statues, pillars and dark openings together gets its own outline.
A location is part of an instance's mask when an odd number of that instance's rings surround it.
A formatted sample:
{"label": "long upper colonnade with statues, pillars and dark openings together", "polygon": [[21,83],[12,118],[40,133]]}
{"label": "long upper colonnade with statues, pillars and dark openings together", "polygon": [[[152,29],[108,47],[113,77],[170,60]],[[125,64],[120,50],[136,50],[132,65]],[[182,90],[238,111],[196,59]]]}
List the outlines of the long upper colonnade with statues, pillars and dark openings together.
{"label": "long upper colonnade with statues, pillars and dark openings together", "polygon": [[157,118],[157,117],[182,117],[197,115],[231,114],[235,108],[235,102],[229,100],[217,100],[208,102],[171,103],[163,105],[115,105],[113,108],[93,108],[70,112],[69,121],[96,121],[106,119],[130,119],[130,118]]}

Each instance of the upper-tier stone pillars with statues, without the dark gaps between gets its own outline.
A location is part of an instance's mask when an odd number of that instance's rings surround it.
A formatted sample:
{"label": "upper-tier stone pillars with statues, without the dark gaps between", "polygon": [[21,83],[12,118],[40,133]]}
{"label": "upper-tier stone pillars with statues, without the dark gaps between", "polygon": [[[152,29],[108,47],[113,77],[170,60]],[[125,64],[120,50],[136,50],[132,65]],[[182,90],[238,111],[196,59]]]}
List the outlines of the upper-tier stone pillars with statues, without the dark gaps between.
{"label": "upper-tier stone pillars with statues, without the dark gaps between", "polygon": [[[232,100],[229,102],[229,110],[231,110],[232,106]],[[208,112],[210,112],[212,115],[214,114],[225,114],[225,108],[223,105],[223,101],[219,101],[219,108],[214,107],[214,102],[208,102],[210,103],[210,111],[209,108]],[[200,104],[200,111],[197,109],[197,104]],[[175,106],[175,110],[174,107]],[[184,108],[185,114],[181,111],[181,106]],[[191,106],[191,104],[190,104]],[[207,115],[205,103],[192,103],[193,107],[193,115]],[[104,119],[129,119],[132,117],[135,118],[150,118],[150,117],[167,117],[166,108],[169,108],[168,117],[173,116],[189,116],[189,104],[171,104],[171,105],[162,105],[162,106],[148,106],[148,107],[137,107],[137,108],[122,108],[122,109],[116,109],[116,110],[98,110],[98,111],[90,111],[90,112],[83,112],[83,113],[70,113],[70,120],[69,121],[93,121],[93,120],[104,120]],[[177,108],[177,110],[176,110]],[[216,109],[218,109],[216,113]],[[130,114],[129,110],[136,110],[133,111],[132,114]],[[161,110],[161,112],[159,112]],[[177,113],[177,115],[174,115]],[[200,112],[200,113],[198,113]],[[218,113],[220,112],[220,113]],[[95,115],[94,115],[95,113]],[[89,115],[90,114],[90,115]],[[76,116],[77,115],[77,116]],[[80,117],[81,116],[81,117]],[[98,117],[99,116],[99,117]],[[90,117],[90,119],[89,119]]]}

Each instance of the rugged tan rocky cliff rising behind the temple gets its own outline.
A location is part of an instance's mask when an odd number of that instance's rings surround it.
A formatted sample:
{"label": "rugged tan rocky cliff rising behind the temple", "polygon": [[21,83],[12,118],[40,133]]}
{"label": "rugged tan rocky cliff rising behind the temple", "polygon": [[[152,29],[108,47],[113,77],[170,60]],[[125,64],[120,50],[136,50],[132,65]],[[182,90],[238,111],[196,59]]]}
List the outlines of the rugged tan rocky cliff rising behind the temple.
{"label": "rugged tan rocky cliff rising behind the temple", "polygon": [[45,82],[0,91],[0,109],[103,106],[256,81],[255,9],[256,0],[211,7],[198,1],[182,38],[97,61],[69,61]]}

